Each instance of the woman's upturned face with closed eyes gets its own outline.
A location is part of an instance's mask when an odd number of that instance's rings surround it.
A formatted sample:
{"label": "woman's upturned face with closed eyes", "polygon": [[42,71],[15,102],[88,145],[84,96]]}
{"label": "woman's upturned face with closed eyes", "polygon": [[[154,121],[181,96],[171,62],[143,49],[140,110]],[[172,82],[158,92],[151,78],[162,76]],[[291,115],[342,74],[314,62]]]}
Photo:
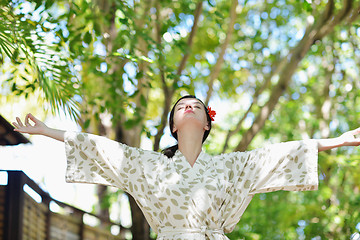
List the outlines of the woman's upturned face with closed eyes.
{"label": "woman's upturned face with closed eyes", "polygon": [[190,123],[193,126],[202,128],[204,131],[209,130],[204,105],[196,98],[184,98],[176,104],[172,131],[176,132],[183,127],[189,126]]}

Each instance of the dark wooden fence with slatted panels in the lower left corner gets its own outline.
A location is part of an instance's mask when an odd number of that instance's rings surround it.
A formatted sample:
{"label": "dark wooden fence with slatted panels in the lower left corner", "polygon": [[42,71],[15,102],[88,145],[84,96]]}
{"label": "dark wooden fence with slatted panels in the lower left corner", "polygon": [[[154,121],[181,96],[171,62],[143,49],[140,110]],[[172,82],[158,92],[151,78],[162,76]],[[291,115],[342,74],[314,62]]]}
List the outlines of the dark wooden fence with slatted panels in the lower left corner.
{"label": "dark wooden fence with slatted panels in the lower left corner", "polygon": [[[0,185],[0,239],[3,240],[122,240],[129,229],[100,217],[59,202],[44,192],[22,171],[4,171],[7,185]],[[41,197],[35,201],[25,191],[27,185]],[[55,202],[64,211],[50,210]],[[91,227],[84,223],[84,215],[95,217],[103,227]],[[121,235],[112,235],[111,226],[121,227]]]}

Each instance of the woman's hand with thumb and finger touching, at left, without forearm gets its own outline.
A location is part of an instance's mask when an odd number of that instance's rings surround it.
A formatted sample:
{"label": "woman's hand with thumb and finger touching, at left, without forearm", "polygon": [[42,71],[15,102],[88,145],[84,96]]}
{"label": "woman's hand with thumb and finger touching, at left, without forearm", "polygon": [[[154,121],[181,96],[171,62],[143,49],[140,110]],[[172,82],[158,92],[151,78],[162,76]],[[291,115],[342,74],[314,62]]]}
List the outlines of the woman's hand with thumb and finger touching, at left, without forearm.
{"label": "woman's hand with thumb and finger touching, at left, without forearm", "polygon": [[[34,124],[30,123],[31,120]],[[28,134],[41,134],[43,135],[48,128],[45,123],[35,118],[31,113],[26,114],[24,124],[21,122],[20,118],[16,118],[17,122],[13,122],[15,126],[14,131]]]}

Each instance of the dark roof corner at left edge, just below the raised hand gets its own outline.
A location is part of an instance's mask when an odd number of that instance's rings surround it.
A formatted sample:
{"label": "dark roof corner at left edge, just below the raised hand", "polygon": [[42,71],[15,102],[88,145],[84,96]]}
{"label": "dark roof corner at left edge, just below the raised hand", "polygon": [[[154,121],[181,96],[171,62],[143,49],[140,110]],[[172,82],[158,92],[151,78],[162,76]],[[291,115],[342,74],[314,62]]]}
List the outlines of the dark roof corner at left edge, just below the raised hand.
{"label": "dark roof corner at left edge, just below the raised hand", "polygon": [[0,115],[0,145],[17,145],[30,143],[30,141],[19,132],[14,132],[14,127]]}

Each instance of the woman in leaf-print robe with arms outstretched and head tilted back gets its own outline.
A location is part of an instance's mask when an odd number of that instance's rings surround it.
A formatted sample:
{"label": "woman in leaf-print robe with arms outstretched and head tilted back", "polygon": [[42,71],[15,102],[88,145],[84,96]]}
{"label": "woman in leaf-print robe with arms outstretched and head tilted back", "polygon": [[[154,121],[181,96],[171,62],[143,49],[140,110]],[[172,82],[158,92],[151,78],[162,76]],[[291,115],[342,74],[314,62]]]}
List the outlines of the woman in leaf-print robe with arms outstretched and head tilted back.
{"label": "woman in leaf-print robe with arms outstretched and head tilted back", "polygon": [[224,233],[233,230],[254,194],[316,190],[318,151],[360,145],[358,128],[332,139],[209,156],[202,151],[211,129],[209,113],[196,97],[180,98],[169,121],[178,145],[163,153],[51,129],[31,114],[25,125],[19,118],[14,125],[15,131],[65,142],[68,182],[111,185],[130,193],[158,239],[228,239]]}

